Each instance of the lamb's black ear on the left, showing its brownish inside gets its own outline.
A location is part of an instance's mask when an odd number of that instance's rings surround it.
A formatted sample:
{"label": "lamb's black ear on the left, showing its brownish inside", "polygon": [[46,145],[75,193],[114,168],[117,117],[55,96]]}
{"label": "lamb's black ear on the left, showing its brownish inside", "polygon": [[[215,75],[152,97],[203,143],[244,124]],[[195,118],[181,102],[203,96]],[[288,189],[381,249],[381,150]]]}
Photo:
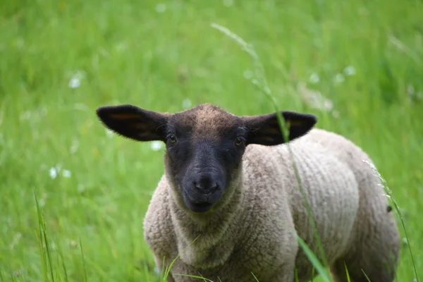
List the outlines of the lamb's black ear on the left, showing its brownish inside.
{"label": "lamb's black ear on the left, showing its brownish inside", "polygon": [[137,141],[166,140],[169,114],[147,111],[137,106],[102,106],[97,109],[100,121],[115,133]]}

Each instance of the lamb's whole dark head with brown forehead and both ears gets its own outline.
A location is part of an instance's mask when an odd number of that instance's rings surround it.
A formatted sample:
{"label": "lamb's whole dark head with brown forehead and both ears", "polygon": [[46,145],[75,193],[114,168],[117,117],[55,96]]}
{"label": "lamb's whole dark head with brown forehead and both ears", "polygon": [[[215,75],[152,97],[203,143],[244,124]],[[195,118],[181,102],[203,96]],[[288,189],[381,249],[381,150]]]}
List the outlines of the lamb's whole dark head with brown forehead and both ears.
{"label": "lamb's whole dark head with brown forehead and both ears", "polygon": [[104,106],[97,109],[102,123],[132,140],[166,143],[165,166],[177,199],[192,212],[207,212],[230,189],[238,173],[245,146],[279,145],[305,135],[316,118],[281,111],[288,135],[281,133],[275,114],[234,116],[212,104],[201,104],[176,114],[137,106]]}

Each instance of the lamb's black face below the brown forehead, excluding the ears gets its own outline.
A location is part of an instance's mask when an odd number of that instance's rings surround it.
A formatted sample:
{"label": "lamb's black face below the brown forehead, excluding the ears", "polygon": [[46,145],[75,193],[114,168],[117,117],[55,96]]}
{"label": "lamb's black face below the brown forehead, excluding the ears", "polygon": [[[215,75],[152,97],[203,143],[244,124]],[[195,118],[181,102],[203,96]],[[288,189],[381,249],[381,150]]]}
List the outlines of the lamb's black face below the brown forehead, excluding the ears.
{"label": "lamb's black face below the brown forehead, excluding the ears", "polygon": [[[241,125],[241,124],[240,124]],[[231,186],[245,151],[247,130],[219,128],[204,135],[170,123],[166,130],[168,169],[187,209],[207,212]]]}

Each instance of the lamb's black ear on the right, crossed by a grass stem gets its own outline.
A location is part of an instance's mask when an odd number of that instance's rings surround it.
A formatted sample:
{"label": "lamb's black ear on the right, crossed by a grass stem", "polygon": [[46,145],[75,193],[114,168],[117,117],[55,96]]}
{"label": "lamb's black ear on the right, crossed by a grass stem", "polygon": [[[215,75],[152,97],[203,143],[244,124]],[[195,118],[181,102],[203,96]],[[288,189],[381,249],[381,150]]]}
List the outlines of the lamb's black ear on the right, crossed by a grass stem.
{"label": "lamb's black ear on the right, crossed by a grass stem", "polygon": [[[299,114],[293,111],[281,112],[289,128],[289,140],[305,135],[317,123],[317,118],[310,114]],[[263,116],[244,116],[245,127],[248,129],[246,144],[278,145],[287,142],[281,131],[276,114]]]}

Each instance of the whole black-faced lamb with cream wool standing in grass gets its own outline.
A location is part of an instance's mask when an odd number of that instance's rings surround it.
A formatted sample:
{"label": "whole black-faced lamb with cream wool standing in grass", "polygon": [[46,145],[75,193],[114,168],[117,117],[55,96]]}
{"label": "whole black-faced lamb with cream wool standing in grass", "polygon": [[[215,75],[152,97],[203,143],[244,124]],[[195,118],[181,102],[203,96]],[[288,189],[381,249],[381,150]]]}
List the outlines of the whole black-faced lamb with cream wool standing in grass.
{"label": "whole black-faced lamb with cream wool standing in grass", "polygon": [[[298,175],[334,281],[393,281],[398,227],[366,153],[314,128],[310,114],[235,116],[212,104],[176,114],[104,106],[109,129],[137,141],[166,144],[164,176],[149,204],[145,240],[168,281],[203,276],[223,282],[309,281],[312,264],[300,236],[319,254]],[[364,160],[364,161],[363,161]],[[254,274],[254,276],[252,276]]]}

